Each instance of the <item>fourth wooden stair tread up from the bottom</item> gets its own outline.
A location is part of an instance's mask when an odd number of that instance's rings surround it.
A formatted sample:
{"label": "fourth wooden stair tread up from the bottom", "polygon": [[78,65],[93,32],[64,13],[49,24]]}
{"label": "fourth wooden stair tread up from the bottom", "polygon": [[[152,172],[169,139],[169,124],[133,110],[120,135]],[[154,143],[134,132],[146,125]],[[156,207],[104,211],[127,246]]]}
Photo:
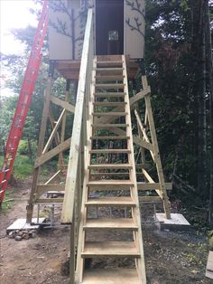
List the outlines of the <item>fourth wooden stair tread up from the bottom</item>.
{"label": "fourth wooden stair tread up from the bottom", "polygon": [[130,196],[120,196],[120,197],[104,197],[104,198],[88,198],[85,203],[86,206],[135,206],[133,199]]}

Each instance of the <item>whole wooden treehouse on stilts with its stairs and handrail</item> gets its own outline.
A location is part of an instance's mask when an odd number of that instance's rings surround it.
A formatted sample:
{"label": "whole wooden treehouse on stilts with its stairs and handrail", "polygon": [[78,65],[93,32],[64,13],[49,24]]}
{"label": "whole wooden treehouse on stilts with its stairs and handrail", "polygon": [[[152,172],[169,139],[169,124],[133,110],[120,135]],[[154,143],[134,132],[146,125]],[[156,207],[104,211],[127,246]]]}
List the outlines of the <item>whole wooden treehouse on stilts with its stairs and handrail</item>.
{"label": "whole wooden treehouse on stilts with its stairs and handrail", "polygon": [[[50,72],[26,220],[32,223],[35,205],[39,216],[40,206],[61,204],[60,222],[70,225],[71,284],[146,284],[140,210],[160,203],[170,220],[171,184],[145,74],[139,90],[129,91],[144,59],[144,0],[48,3]],[[52,91],[54,68],[67,81],[60,95]],[[52,158],[57,170],[43,181],[42,166]],[[119,261],[88,269],[90,259]]]}

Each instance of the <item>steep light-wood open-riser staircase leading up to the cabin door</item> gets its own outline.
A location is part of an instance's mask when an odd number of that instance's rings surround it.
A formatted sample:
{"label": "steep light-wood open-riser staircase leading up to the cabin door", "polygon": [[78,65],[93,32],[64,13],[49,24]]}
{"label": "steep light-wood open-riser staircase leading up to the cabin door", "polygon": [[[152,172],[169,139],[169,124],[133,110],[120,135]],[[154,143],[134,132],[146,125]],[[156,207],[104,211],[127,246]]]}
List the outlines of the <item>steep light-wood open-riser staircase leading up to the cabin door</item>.
{"label": "steep light-wood open-riser staircase leading up to the cabin door", "polygon": [[[95,58],[93,68],[75,282],[145,284],[125,56]],[[112,268],[98,267],[100,259]]]}

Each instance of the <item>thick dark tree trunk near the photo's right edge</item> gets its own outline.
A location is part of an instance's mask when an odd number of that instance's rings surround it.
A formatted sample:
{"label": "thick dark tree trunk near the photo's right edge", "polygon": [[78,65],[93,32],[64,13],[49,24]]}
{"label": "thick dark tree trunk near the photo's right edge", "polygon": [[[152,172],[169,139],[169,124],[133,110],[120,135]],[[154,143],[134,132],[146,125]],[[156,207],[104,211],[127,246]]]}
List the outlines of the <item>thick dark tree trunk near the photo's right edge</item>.
{"label": "thick dark tree trunk near the photo's right edge", "polygon": [[194,65],[195,140],[199,194],[207,195],[207,107],[206,107],[206,0],[193,2],[192,52]]}

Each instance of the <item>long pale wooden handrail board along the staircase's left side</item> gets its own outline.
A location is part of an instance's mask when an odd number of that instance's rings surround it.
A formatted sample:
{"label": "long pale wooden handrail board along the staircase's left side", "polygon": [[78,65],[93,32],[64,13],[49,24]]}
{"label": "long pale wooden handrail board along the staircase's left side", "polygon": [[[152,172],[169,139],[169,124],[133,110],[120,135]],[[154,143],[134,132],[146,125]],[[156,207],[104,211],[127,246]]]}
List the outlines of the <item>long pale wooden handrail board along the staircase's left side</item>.
{"label": "long pale wooden handrail board along the staircase's left side", "polygon": [[61,223],[72,224],[75,222],[75,196],[77,193],[79,179],[79,153],[81,152],[80,138],[86,135],[83,131],[83,111],[86,103],[86,96],[90,94],[90,80],[92,62],[94,58],[93,46],[93,11],[88,9],[88,20],[86,25],[82,57],[79,71],[79,87],[75,106],[75,117],[72,128],[72,138],[69,152],[69,166],[66,177],[65,195],[61,212]]}

